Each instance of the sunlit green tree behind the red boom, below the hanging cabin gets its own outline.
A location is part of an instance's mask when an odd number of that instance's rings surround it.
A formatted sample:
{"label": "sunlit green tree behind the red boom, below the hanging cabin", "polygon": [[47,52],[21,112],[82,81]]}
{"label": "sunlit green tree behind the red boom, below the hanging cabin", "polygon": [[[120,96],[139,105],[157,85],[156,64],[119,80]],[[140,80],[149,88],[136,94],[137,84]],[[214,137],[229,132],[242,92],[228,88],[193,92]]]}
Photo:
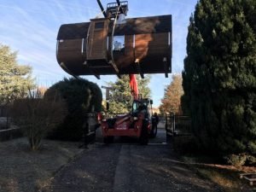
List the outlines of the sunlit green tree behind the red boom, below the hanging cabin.
{"label": "sunlit green tree behind the red boom, below the hanging cabin", "polygon": [[[144,79],[141,79],[137,75],[138,91],[143,98],[150,96],[149,82],[150,76],[146,75]],[[123,75],[121,79],[117,79],[114,83],[110,82],[108,85],[113,88],[108,113],[112,115],[116,113],[128,113],[131,110],[132,103],[129,75]]]}

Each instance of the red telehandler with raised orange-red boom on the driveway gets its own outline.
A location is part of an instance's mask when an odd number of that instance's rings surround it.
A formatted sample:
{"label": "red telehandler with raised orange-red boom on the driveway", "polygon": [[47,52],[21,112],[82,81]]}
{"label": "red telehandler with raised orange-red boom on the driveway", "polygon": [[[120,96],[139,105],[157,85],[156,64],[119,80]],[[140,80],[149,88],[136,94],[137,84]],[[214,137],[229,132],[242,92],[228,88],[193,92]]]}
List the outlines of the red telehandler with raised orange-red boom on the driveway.
{"label": "red telehandler with raised orange-red boom on the driveway", "polygon": [[114,137],[126,136],[137,137],[139,143],[148,144],[148,137],[156,136],[156,127],[151,124],[153,102],[148,98],[139,98],[136,75],[130,74],[129,77],[133,96],[131,112],[102,119],[104,143],[112,143]]}

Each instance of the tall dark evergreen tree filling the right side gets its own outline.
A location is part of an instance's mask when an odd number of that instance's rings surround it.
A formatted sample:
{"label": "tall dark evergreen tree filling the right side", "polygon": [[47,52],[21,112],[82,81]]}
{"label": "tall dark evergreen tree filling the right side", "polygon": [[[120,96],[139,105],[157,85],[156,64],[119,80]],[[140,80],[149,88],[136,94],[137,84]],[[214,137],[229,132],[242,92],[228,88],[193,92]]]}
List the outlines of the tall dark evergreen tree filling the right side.
{"label": "tall dark evergreen tree filling the right side", "polygon": [[190,18],[183,107],[205,148],[256,154],[256,1],[201,0]]}

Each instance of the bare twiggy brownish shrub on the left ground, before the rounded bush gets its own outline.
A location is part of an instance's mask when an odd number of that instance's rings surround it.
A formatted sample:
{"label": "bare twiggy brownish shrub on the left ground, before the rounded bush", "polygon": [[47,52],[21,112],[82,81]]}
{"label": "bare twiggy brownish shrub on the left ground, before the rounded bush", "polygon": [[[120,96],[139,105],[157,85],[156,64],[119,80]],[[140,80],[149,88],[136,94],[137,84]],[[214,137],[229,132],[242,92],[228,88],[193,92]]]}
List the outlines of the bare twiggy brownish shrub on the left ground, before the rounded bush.
{"label": "bare twiggy brownish shrub on the left ground, before the rounded bush", "polygon": [[12,117],[22,128],[32,150],[37,150],[45,135],[65,118],[67,107],[57,93],[42,97],[39,90],[29,92],[26,98],[15,100]]}

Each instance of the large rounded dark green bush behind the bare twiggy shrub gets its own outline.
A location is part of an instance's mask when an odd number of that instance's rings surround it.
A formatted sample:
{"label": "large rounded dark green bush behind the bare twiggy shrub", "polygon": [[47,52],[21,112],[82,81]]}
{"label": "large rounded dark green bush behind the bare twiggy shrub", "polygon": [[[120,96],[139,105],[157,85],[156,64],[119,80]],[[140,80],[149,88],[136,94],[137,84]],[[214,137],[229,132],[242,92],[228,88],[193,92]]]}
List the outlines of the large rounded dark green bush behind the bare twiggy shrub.
{"label": "large rounded dark green bush behind the bare twiggy shrub", "polygon": [[84,134],[85,113],[100,112],[102,91],[97,84],[86,79],[63,79],[46,91],[45,97],[52,91],[60,91],[67,103],[68,113],[61,125],[58,125],[49,138],[79,141]]}

